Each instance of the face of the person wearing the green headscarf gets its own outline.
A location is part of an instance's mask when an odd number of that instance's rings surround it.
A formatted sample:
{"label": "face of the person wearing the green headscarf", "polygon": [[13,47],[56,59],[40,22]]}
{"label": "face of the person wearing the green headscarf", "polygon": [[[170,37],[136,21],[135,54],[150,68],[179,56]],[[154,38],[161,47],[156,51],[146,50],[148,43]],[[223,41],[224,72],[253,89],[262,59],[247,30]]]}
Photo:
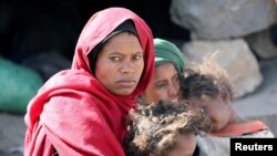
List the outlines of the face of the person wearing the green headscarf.
{"label": "face of the person wearing the green headscarf", "polygon": [[155,67],[155,74],[146,91],[142,95],[146,102],[171,101],[179,98],[179,77],[172,63],[164,63]]}

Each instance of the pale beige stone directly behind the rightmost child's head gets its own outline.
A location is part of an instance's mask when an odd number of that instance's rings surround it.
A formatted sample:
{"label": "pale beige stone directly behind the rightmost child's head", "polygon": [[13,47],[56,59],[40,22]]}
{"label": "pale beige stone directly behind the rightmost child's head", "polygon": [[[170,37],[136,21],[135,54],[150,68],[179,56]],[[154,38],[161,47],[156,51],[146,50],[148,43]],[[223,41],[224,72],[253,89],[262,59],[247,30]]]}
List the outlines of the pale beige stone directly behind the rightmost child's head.
{"label": "pale beige stone directly behind the rightmost child's head", "polygon": [[235,98],[253,93],[263,82],[257,59],[242,39],[192,41],[182,50],[189,62],[202,62],[206,54],[219,51],[217,63],[228,73]]}

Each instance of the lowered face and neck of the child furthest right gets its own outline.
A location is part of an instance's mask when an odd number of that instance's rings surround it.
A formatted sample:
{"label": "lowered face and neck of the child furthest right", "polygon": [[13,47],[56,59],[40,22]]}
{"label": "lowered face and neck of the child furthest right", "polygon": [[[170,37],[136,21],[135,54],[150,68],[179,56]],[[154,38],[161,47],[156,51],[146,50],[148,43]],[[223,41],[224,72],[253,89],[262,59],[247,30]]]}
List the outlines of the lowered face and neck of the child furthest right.
{"label": "lowered face and neck of the child furthest right", "polygon": [[232,118],[232,105],[229,100],[217,95],[215,98],[203,96],[199,100],[193,100],[193,105],[202,107],[204,113],[209,116],[212,122],[212,132],[217,132],[225,127]]}

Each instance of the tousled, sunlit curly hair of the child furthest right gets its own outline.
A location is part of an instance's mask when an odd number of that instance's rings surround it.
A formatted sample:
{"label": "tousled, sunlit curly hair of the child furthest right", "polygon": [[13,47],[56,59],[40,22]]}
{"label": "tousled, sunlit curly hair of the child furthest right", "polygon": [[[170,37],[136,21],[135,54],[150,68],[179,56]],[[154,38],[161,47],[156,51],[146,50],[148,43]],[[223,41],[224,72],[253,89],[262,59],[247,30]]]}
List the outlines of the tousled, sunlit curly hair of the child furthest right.
{"label": "tousled, sunlit curly hair of the child furthest right", "polygon": [[232,83],[227,72],[215,62],[217,52],[206,55],[202,64],[191,63],[181,83],[185,100],[199,98],[203,95],[216,97],[225,89],[233,100]]}

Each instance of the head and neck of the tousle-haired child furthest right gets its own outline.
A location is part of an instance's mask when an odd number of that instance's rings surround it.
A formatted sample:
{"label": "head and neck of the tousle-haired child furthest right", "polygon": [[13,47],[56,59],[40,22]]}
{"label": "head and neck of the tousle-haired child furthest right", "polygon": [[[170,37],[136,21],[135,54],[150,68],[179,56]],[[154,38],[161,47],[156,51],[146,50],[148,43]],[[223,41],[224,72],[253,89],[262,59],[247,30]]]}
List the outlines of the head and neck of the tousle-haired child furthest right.
{"label": "head and neck of the tousle-haired child furthest right", "polygon": [[214,62],[216,54],[204,58],[202,64],[192,64],[182,82],[184,98],[209,116],[212,132],[232,123],[232,85],[227,73]]}

